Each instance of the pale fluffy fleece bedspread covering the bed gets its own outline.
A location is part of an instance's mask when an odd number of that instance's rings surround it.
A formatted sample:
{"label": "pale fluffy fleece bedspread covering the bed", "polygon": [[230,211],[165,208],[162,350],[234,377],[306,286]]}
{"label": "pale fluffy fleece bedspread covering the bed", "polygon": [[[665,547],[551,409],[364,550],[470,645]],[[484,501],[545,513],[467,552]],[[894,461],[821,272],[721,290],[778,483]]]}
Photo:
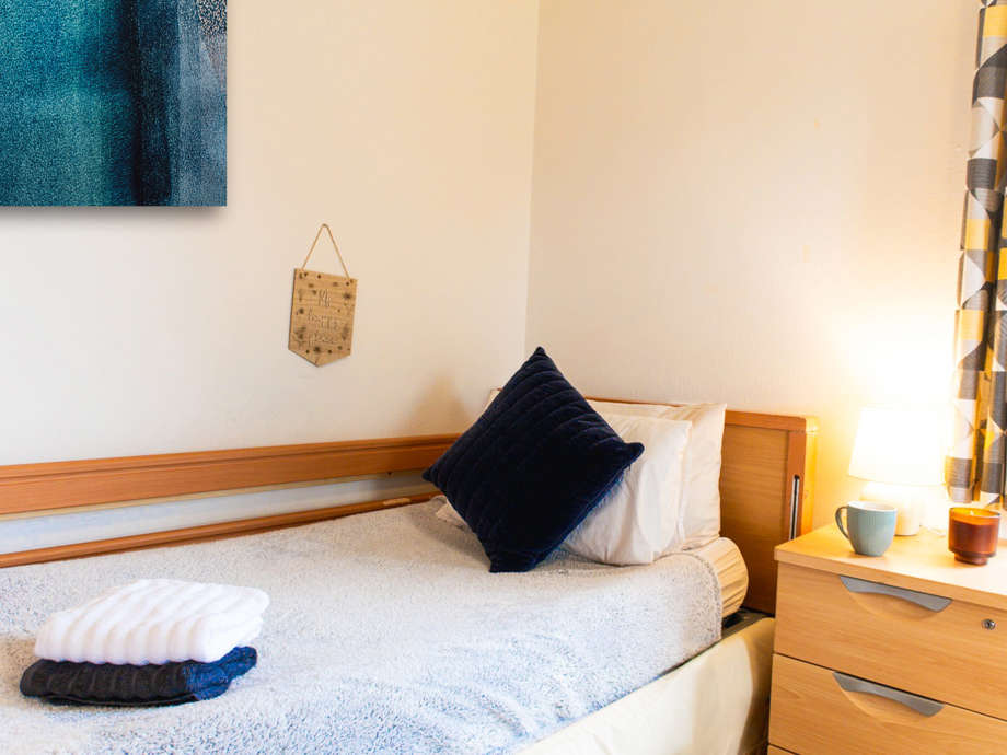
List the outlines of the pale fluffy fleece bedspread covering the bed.
{"label": "pale fluffy fleece bedspread covering the bed", "polygon": [[[513,752],[719,639],[717,579],[696,556],[607,567],[559,554],[490,574],[474,536],[435,510],[0,569],[0,752]],[[258,665],[171,708],[21,696],[50,613],[152,577],[268,593]]]}

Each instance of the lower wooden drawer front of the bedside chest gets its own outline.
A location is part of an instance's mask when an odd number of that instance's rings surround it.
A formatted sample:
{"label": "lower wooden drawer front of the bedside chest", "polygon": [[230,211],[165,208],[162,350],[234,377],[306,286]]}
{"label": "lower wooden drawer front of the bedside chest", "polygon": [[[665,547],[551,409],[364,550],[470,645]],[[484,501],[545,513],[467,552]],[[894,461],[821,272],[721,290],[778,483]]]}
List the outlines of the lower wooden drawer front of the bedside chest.
{"label": "lower wooden drawer front of the bedside chest", "polygon": [[[846,677],[843,684],[864,681]],[[876,692],[846,690],[829,669],[774,655],[769,742],[814,755],[1003,753],[1007,746],[1005,721],[926,698],[895,701],[877,693],[904,694],[870,682],[867,686]]]}

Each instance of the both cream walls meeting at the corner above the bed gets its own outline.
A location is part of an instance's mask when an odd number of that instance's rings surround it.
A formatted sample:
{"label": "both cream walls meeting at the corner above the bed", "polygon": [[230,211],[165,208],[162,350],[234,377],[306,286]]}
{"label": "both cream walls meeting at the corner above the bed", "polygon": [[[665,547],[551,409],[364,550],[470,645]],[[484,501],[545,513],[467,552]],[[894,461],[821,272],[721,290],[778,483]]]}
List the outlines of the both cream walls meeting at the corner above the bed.
{"label": "both cream walls meeting at the corner above the bed", "polygon": [[[974,28],[232,3],[227,209],[0,208],[0,464],[458,430],[541,342],[586,392],[819,416],[821,523],[861,405],[947,398]],[[316,369],[287,307],[322,220],[361,282]]]}

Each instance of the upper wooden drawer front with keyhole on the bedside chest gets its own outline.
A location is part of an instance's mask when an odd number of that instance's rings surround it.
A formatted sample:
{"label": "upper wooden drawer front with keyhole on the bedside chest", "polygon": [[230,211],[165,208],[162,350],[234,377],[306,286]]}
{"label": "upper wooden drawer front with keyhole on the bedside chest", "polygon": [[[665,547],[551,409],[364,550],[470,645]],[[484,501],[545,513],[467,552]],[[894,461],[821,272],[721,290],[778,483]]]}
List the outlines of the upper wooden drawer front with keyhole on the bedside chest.
{"label": "upper wooden drawer front with keyhole on the bedside chest", "polygon": [[[889,589],[877,582],[849,584],[780,564],[776,652],[1007,719],[1007,613],[898,588],[901,596],[869,592]],[[984,628],[987,619],[995,628]]]}

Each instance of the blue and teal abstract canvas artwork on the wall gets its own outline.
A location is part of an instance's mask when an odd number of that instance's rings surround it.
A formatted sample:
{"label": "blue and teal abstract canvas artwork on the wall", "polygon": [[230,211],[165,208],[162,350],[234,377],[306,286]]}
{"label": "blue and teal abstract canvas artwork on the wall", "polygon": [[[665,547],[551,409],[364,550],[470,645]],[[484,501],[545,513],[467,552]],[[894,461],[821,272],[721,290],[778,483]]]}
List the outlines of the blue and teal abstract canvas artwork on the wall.
{"label": "blue and teal abstract canvas artwork on the wall", "polygon": [[227,34],[227,0],[0,0],[0,205],[225,205]]}

